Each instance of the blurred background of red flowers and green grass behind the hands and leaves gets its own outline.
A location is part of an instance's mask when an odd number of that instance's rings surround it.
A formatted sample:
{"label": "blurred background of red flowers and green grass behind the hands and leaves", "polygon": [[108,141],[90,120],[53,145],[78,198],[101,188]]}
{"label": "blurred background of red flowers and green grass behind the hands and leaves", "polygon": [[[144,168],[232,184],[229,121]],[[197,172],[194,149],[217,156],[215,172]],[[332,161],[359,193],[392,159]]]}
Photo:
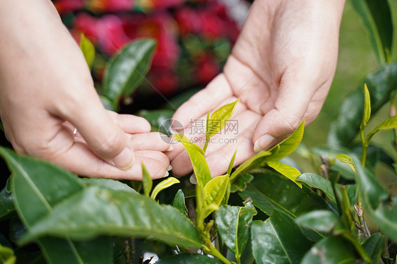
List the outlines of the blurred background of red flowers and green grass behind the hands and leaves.
{"label": "blurred background of red flowers and green grass behind the hands and leaves", "polygon": [[[351,0],[355,1],[355,0]],[[71,34],[79,42],[81,32],[95,44],[93,64],[96,88],[105,62],[127,42],[152,37],[158,42],[153,65],[131,98],[124,98],[122,112],[134,114],[139,109],[158,109],[165,97],[186,93],[185,98],[205,87],[223,67],[239,30],[244,23],[250,1],[245,0],[54,0],[57,10]],[[389,1],[396,24],[397,1]],[[394,38],[396,39],[396,34]],[[396,40],[393,42],[396,48]],[[393,52],[393,50],[392,50]],[[396,60],[392,53],[392,61]],[[367,73],[379,64],[372,52],[369,35],[346,2],[340,27],[338,67],[331,91],[319,117],[307,127],[304,143],[308,147],[325,145],[331,121],[350,90],[362,84]],[[369,123],[373,128],[386,119],[383,109]],[[391,146],[392,131],[380,132],[374,143]],[[393,150],[391,155],[395,155]]]}

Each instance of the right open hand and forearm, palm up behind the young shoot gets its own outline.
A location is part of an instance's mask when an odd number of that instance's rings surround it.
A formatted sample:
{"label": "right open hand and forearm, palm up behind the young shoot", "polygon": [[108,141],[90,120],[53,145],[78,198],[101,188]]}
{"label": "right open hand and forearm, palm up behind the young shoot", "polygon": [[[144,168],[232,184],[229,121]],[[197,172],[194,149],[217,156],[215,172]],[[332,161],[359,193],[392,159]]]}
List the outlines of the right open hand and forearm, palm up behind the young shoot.
{"label": "right open hand and forearm, palm up behind the young shoot", "polygon": [[[302,120],[309,124],[316,118],[336,69],[344,4],[344,0],[254,1],[223,73],[173,116],[185,135],[196,140],[203,135],[194,134],[191,120],[205,120],[208,110],[240,99],[232,116],[238,134],[221,131],[208,145],[206,160],[213,176],[227,171],[236,149],[235,165],[279,143]],[[181,144],[168,157],[174,174],[191,172]]]}

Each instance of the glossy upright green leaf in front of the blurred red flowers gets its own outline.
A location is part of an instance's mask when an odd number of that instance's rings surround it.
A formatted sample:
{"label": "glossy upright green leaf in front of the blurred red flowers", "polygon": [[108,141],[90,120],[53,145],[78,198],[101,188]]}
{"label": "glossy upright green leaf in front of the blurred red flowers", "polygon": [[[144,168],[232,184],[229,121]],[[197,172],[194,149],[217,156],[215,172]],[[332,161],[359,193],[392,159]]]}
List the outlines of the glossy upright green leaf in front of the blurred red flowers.
{"label": "glossy upright green leaf in front of the blurred red flowers", "polygon": [[122,95],[129,97],[141,84],[150,68],[154,51],[154,40],[135,40],[107,63],[103,91],[114,109],[118,108]]}

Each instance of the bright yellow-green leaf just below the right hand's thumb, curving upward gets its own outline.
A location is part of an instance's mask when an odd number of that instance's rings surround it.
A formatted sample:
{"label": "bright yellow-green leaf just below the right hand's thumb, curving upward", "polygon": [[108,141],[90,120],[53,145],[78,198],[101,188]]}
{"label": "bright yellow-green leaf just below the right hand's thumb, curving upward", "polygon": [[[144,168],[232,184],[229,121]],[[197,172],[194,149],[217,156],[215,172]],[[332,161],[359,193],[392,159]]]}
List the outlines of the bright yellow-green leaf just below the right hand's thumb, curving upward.
{"label": "bright yellow-green leaf just below the right hand's thumb, curving upward", "polygon": [[304,131],[304,121],[302,121],[300,126],[298,126],[298,128],[291,134],[291,136],[285,138],[283,142],[281,142],[280,144],[276,145],[274,148],[271,149],[271,150],[275,150],[279,148],[277,152],[271,155],[271,157],[268,157],[268,160],[278,161],[281,160],[283,157],[287,157],[292,152],[294,152],[294,150],[300,144],[300,141],[302,141],[303,131]]}

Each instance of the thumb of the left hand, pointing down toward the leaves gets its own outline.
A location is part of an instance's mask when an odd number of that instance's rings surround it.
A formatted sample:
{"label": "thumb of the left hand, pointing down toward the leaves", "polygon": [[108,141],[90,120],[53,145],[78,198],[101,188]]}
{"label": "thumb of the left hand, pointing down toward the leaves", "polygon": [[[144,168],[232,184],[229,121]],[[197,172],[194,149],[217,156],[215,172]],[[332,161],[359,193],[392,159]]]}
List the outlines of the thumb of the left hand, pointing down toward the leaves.
{"label": "thumb of the left hand, pointing down toward the leaves", "polygon": [[72,114],[66,119],[76,126],[88,147],[97,156],[119,169],[129,169],[135,160],[131,140],[114,123],[99,97],[94,98],[90,103],[85,102],[78,114]]}

